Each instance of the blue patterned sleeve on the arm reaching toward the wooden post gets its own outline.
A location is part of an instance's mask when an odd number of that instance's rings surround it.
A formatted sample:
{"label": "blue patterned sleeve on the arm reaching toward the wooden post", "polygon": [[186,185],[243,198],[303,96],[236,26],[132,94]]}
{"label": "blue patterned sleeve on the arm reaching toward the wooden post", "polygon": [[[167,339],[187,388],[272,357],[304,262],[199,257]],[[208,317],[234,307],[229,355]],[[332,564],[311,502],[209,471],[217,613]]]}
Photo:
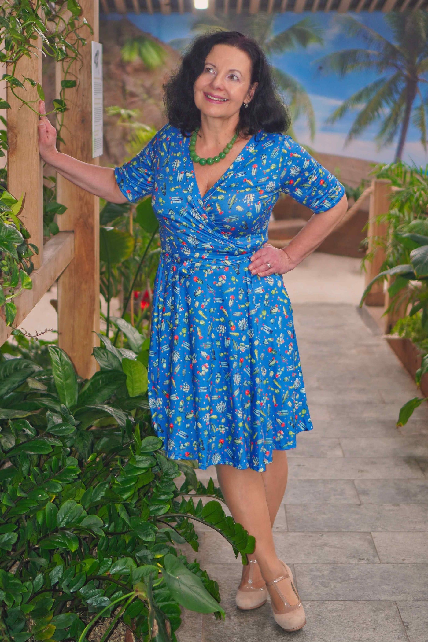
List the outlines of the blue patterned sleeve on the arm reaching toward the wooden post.
{"label": "blue patterned sleeve on the arm reaching toward the wooden post", "polygon": [[114,168],[117,185],[131,203],[151,194],[153,190],[156,143],[157,134],[133,159],[128,160],[121,167]]}

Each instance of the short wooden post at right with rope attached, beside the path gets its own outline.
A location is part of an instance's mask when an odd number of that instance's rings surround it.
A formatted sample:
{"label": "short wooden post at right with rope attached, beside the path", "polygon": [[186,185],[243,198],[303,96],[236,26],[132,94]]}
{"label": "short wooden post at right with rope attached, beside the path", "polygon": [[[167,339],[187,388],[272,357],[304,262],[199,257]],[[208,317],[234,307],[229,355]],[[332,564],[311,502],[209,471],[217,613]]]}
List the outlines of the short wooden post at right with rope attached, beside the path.
{"label": "short wooden post at right with rope attached, beside the path", "polygon": [[[370,208],[368,213],[368,252],[374,252],[373,260],[368,263],[366,272],[366,286],[381,271],[381,265],[385,260],[385,250],[379,247],[374,236],[382,236],[386,239],[388,225],[385,221],[377,223],[380,214],[386,214],[389,210],[389,195],[391,194],[391,183],[389,180],[372,180],[372,193],[370,194]],[[373,283],[372,290],[366,297],[366,306],[383,306],[385,303],[384,282],[379,280]]]}

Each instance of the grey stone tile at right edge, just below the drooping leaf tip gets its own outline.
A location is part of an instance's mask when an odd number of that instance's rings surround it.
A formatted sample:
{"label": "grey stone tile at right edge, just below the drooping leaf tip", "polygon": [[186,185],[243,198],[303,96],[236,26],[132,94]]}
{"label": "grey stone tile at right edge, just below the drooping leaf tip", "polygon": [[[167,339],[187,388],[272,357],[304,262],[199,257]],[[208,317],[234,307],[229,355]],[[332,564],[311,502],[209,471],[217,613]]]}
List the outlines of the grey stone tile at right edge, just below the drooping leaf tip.
{"label": "grey stone tile at right edge, just below the drooping leaf tip", "polygon": [[428,438],[423,437],[341,437],[345,457],[427,457]]}

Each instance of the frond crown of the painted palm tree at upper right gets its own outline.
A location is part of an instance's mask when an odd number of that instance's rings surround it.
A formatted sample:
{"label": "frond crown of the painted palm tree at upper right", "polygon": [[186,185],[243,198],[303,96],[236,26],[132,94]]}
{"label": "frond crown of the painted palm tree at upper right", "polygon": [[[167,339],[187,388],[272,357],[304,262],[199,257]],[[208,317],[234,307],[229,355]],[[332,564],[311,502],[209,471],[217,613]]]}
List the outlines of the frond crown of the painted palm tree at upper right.
{"label": "frond crown of the painted palm tree at upper right", "polygon": [[428,13],[392,12],[385,20],[392,31],[388,40],[350,15],[338,16],[345,33],[361,37],[366,49],[343,49],[320,58],[322,73],[346,76],[352,71],[374,71],[379,77],[345,100],[329,117],[334,123],[348,111],[359,109],[345,144],[373,123],[379,148],[397,138],[395,160],[401,160],[410,122],[418,128],[427,151],[428,114]]}

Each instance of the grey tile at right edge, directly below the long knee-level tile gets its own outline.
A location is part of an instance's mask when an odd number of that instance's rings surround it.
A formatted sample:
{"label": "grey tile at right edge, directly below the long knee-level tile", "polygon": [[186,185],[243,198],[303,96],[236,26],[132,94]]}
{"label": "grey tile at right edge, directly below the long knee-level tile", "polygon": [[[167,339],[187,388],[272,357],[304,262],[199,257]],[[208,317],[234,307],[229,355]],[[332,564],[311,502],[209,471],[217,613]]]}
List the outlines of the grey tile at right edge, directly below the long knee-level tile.
{"label": "grey tile at right edge, directly below the long knee-level tile", "polygon": [[354,484],[363,504],[411,504],[428,501],[428,480],[355,480]]}

